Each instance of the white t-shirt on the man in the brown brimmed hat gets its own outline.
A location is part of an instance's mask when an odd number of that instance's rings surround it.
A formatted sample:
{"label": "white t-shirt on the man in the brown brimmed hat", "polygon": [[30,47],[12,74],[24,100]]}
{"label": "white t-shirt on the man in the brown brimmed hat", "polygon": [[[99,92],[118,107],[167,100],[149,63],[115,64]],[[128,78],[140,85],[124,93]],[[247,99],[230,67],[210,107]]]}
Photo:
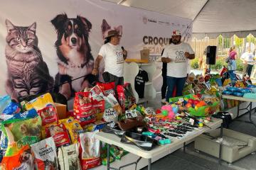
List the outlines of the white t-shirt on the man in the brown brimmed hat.
{"label": "white t-shirt on the man in the brown brimmed hat", "polygon": [[105,61],[104,72],[109,72],[117,77],[124,76],[124,57],[122,48],[119,45],[112,45],[108,42],[102,45],[99,55],[101,55]]}

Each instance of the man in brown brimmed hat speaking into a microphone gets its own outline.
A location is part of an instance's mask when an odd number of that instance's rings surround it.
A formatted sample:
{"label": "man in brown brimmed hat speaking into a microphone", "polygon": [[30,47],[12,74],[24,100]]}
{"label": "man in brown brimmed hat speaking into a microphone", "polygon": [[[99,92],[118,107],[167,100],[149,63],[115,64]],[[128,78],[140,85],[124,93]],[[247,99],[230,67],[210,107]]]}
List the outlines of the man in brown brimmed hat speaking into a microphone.
{"label": "man in brown brimmed hat speaking into a microphone", "polygon": [[114,81],[115,89],[117,85],[124,84],[124,60],[127,58],[127,51],[122,50],[119,45],[121,37],[116,30],[110,30],[107,33],[105,44],[100,48],[92,70],[92,74],[97,75],[100,61],[104,59],[105,70],[102,77],[105,82]]}

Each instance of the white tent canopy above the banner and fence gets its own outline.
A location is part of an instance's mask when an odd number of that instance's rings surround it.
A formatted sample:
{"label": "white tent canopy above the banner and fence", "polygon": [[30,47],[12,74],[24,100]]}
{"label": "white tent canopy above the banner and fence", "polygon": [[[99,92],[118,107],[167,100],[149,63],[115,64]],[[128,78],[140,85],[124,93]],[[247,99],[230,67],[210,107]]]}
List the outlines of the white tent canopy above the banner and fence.
{"label": "white tent canopy above the banner and fence", "polygon": [[193,36],[256,35],[256,0],[104,0],[193,20]]}

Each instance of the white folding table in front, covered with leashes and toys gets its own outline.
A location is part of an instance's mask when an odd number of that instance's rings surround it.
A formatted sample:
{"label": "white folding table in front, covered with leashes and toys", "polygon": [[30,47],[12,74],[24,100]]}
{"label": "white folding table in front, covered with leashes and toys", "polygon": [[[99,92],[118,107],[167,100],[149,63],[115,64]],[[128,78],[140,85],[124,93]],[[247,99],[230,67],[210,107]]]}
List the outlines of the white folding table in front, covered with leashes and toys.
{"label": "white folding table in front, covered with leashes and toys", "polygon": [[[151,149],[151,151],[146,151],[143,149],[140,149],[139,147],[135,146],[135,145],[128,145],[128,144],[124,144],[122,142],[120,142],[120,138],[117,137],[116,135],[112,135],[110,133],[105,133],[105,132],[98,132],[95,137],[102,141],[105,142],[107,144],[107,156],[108,156],[108,161],[107,161],[107,169],[114,169],[110,167],[109,164],[109,157],[110,157],[110,145],[115,145],[117,147],[122,147],[124,150],[127,150],[128,152],[132,153],[132,154],[136,154],[137,156],[139,156],[140,158],[137,160],[137,162],[132,162],[131,164],[127,164],[124,166],[119,167],[119,169],[121,169],[122,167],[125,166],[129,166],[132,164],[136,164],[139,162],[139,160],[141,158],[145,158],[148,159],[148,169],[151,169],[151,159],[153,157],[156,157],[157,155],[161,154],[162,152],[166,152],[166,150],[171,150],[174,147],[177,147],[179,145],[182,145],[185,147],[186,142],[188,142],[189,140],[193,140],[194,138],[198,137],[199,135],[203,134],[204,132],[208,132],[210,130],[215,130],[217,128],[221,127],[221,124],[223,123],[223,120],[221,119],[216,119],[216,118],[212,118],[212,122],[207,123],[208,127],[204,127],[201,128],[200,130],[196,130],[195,132],[192,132],[191,135],[188,135],[186,137],[182,137],[181,139],[176,139],[176,138],[172,138],[171,137],[171,144],[169,145],[163,145],[163,146],[159,146],[156,147],[154,149]],[[221,128],[222,131],[222,128]],[[221,155],[221,142],[220,142],[220,155]]]}

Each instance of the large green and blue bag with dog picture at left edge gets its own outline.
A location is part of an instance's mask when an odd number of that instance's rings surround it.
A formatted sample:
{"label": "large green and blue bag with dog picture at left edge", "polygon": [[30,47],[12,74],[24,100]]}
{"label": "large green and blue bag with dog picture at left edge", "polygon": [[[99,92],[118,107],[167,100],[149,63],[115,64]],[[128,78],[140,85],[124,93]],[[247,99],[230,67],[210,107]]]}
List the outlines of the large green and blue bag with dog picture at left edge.
{"label": "large green and blue bag with dog picture at left edge", "polygon": [[41,140],[42,120],[35,109],[15,114],[1,123],[4,135],[9,143],[16,142],[18,147],[31,145]]}

